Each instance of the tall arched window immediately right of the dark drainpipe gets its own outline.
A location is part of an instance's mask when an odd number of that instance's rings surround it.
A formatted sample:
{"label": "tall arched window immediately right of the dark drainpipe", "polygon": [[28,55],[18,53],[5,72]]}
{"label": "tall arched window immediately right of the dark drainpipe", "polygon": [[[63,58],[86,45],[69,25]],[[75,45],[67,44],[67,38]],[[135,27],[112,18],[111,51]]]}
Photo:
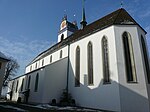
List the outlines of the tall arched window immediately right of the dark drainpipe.
{"label": "tall arched window immediately right of the dark drainpipe", "polygon": [[80,48],[76,48],[75,86],[80,86]]}

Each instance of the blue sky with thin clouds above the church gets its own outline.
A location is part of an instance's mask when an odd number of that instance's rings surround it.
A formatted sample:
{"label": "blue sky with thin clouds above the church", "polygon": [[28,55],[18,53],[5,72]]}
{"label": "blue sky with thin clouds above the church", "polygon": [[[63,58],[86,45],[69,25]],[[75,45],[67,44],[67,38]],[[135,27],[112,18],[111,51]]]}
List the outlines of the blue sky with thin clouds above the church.
{"label": "blue sky with thin clouds above the church", "polygon": [[[119,9],[120,2],[86,0],[87,22]],[[124,0],[123,3],[123,7],[148,32],[150,49],[150,0]],[[80,26],[81,7],[81,0],[0,0],[0,51],[18,60],[18,75],[24,74],[25,66],[37,54],[57,42],[64,14]]]}

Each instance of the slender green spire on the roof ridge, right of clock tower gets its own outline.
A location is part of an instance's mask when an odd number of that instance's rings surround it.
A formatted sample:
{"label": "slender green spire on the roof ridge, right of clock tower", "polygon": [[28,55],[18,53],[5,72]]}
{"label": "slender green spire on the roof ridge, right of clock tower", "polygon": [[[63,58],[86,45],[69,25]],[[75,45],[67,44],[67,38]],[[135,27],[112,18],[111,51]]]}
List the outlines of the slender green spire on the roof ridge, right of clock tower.
{"label": "slender green spire on the roof ridge, right of clock tower", "polygon": [[81,24],[81,29],[83,29],[83,28],[86,26],[86,24],[87,24],[87,22],[86,22],[86,17],[85,17],[84,2],[85,2],[85,0],[82,0],[82,20],[81,20],[81,22],[80,22],[80,24]]}

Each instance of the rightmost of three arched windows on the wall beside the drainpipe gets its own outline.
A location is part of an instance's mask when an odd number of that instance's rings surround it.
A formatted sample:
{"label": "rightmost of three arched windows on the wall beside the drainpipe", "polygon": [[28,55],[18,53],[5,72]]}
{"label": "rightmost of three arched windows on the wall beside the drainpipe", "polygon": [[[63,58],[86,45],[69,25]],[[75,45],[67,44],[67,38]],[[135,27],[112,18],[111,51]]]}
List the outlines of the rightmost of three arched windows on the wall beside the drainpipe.
{"label": "rightmost of three arched windows on the wall beside the drainpipe", "polygon": [[104,83],[110,83],[110,72],[109,72],[109,57],[108,57],[108,41],[104,36],[102,38],[102,62],[103,62],[103,81]]}

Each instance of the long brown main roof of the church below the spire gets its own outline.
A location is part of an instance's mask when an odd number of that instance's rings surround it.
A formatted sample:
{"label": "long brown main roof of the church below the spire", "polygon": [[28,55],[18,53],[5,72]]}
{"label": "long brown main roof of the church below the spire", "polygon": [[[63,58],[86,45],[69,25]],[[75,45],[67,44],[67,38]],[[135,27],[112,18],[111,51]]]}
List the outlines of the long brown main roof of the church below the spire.
{"label": "long brown main roof of the church below the spire", "polygon": [[103,30],[111,25],[138,25],[146,33],[146,31],[128,14],[128,12],[121,8],[85,26],[84,29],[77,30],[68,38],[39,54],[31,63],[34,63],[35,61],[51,54],[55,50],[58,50],[59,48],[68,45],[69,43],[75,42],[81,38],[86,37],[87,35]]}

